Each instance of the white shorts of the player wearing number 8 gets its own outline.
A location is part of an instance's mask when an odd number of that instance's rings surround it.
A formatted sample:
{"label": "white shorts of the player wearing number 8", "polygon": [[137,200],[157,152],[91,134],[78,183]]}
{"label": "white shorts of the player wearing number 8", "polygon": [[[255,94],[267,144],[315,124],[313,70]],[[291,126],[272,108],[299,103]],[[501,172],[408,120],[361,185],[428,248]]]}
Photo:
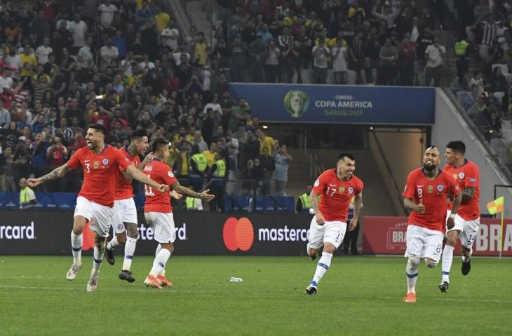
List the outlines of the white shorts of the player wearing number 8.
{"label": "white shorts of the player wearing number 8", "polygon": [[439,262],[443,246],[443,232],[429,230],[419,225],[407,227],[407,250],[405,257],[429,258]]}

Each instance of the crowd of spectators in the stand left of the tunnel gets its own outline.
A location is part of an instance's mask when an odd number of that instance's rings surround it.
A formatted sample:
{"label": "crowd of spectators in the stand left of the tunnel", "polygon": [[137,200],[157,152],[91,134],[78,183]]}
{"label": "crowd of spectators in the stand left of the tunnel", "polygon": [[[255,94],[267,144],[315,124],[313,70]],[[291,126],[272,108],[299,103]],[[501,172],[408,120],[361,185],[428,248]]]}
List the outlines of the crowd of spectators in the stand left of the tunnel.
{"label": "crowd of spectators in the stand left of the tunnel", "polygon": [[[253,180],[231,191],[285,195],[285,146],[231,97],[204,34],[184,38],[165,3],[1,1],[0,190],[64,164],[100,123],[117,148],[135,130],[169,139],[182,179],[203,153],[208,167],[224,158],[225,178]],[[52,182],[39,191],[79,190],[81,174]]]}

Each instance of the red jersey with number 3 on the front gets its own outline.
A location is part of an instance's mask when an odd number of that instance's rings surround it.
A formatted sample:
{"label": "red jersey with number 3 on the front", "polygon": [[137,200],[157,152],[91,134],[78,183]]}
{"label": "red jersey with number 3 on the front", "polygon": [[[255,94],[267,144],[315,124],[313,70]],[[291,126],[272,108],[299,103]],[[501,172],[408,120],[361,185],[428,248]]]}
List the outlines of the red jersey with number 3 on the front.
{"label": "red jersey with number 3 on the front", "polygon": [[83,185],[79,196],[91,202],[112,207],[114,205],[114,189],[119,170],[125,170],[132,162],[116,148],[105,144],[100,155],[88,147],[82,147],[67,161],[67,167],[83,168]]}

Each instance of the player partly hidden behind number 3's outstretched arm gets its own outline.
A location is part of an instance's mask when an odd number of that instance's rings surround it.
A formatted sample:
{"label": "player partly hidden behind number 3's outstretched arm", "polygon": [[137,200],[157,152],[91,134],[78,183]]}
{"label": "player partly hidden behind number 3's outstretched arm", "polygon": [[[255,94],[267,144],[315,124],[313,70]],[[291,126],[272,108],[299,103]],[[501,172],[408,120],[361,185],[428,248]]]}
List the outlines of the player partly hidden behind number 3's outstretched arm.
{"label": "player partly hidden behind number 3's outstretched arm", "polygon": [[[151,160],[152,155],[147,155],[144,161],[140,162],[139,155],[144,155],[149,148],[147,133],[140,130],[133,133],[129,146],[121,148],[124,157],[133,162],[135,167],[142,170],[144,165]],[[114,192],[114,216],[112,217],[112,228],[114,229],[114,238],[107,244],[105,255],[107,262],[114,265],[114,248],[118,245],[124,245],[124,261],[119,279],[128,282],[135,281],[130,267],[133,261],[133,253],[139,237],[137,228],[137,207],[133,200],[133,177],[127,172],[118,172],[116,179],[116,190]],[[126,237],[128,235],[128,238]]]}

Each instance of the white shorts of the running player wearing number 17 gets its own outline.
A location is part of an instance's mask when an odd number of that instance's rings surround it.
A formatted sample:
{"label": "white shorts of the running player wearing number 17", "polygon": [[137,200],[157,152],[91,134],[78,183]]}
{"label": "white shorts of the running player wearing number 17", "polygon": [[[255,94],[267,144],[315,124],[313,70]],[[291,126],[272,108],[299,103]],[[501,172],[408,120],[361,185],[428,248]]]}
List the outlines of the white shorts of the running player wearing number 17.
{"label": "white shorts of the running player wearing number 17", "polygon": [[318,249],[325,243],[330,243],[336,248],[342,244],[345,237],[346,223],[340,221],[325,222],[324,225],[316,223],[316,216],[311,219],[308,234],[308,248]]}

